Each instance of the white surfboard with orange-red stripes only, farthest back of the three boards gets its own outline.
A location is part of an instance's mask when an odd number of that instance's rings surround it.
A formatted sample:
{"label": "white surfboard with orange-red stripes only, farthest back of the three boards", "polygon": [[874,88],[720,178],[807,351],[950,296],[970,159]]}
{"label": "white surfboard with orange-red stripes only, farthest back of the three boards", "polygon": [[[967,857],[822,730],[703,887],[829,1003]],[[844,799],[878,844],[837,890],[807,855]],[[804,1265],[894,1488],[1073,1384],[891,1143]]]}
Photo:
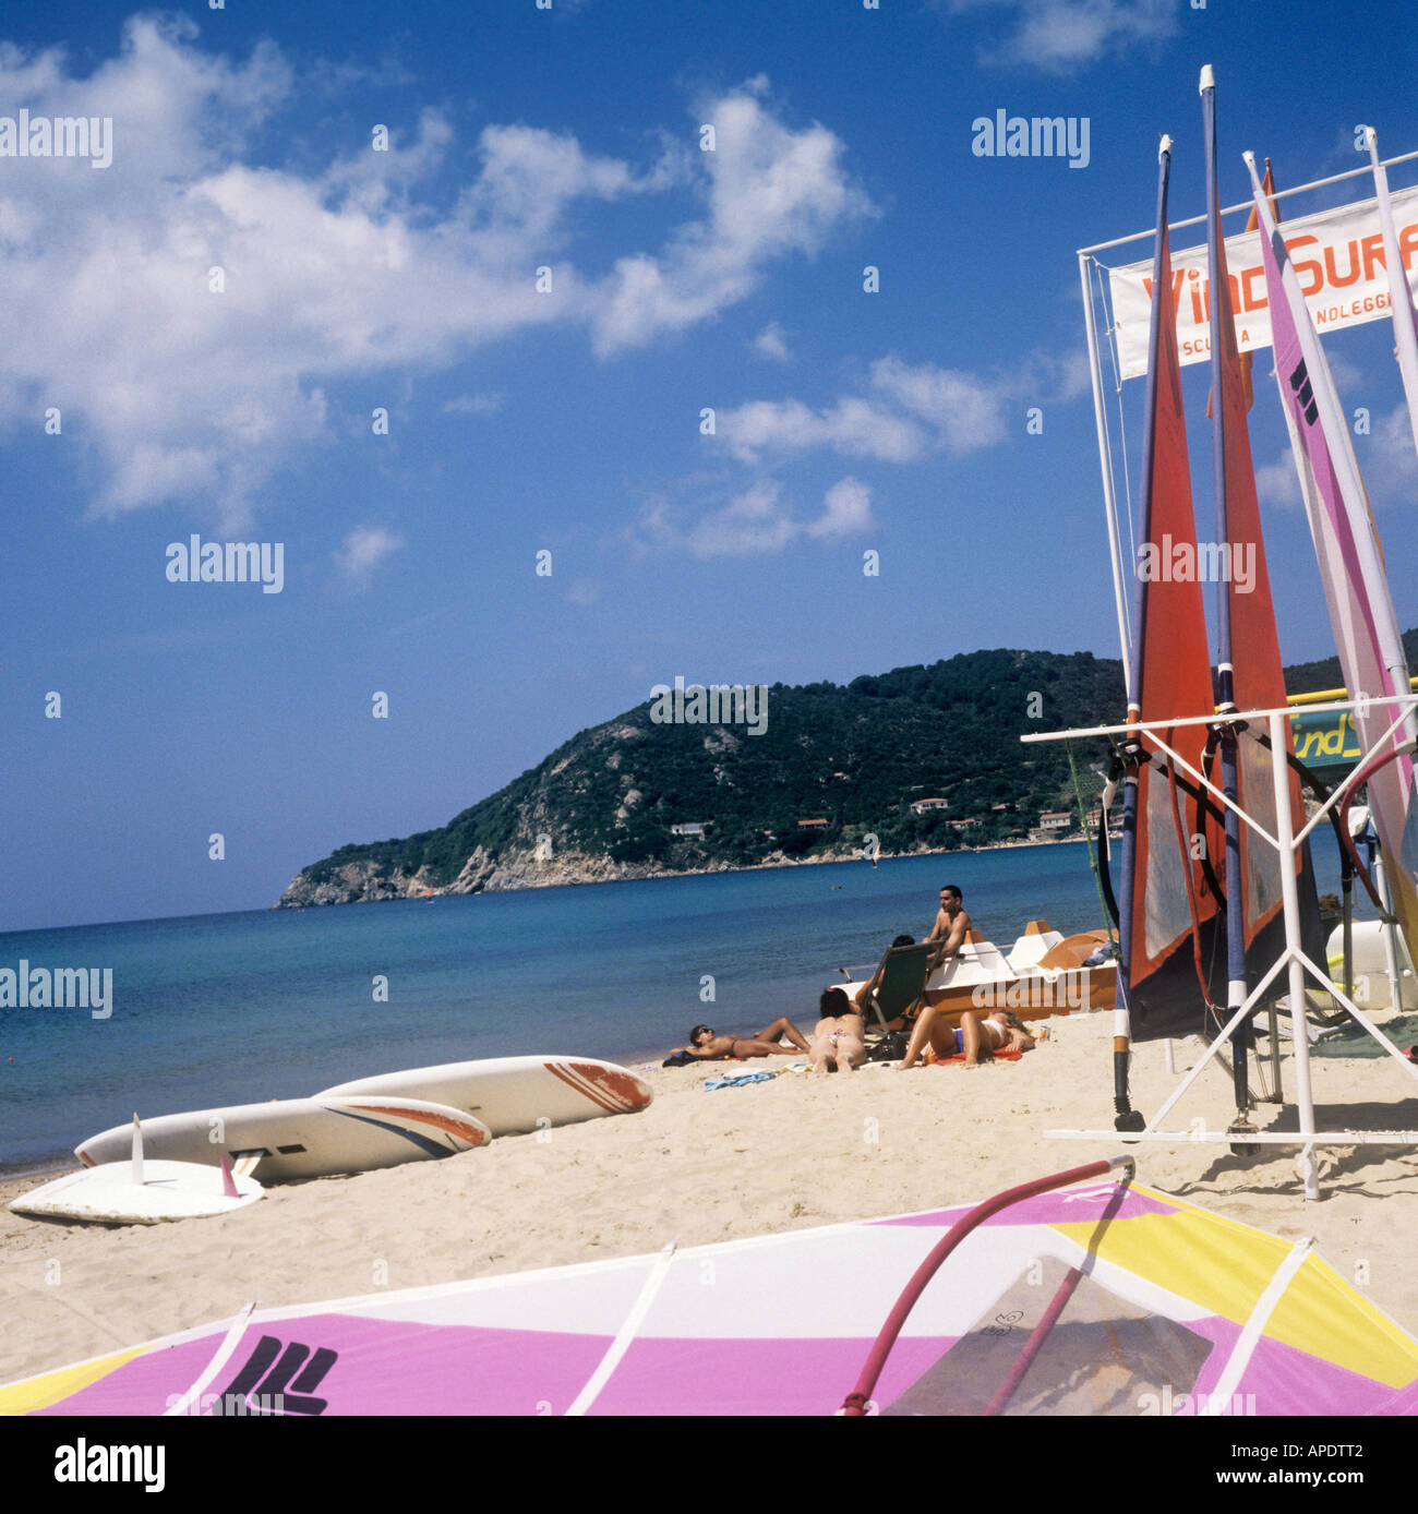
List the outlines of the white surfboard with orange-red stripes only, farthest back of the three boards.
{"label": "white surfboard with orange-red stripes only, farthest back of the three boards", "polygon": [[[654,1095],[625,1067],[595,1057],[493,1057],[354,1078],[316,1098],[389,1093],[437,1099],[480,1119],[493,1136],[519,1136],[602,1114],[634,1114]],[[543,1123],[545,1122],[545,1123]]]}

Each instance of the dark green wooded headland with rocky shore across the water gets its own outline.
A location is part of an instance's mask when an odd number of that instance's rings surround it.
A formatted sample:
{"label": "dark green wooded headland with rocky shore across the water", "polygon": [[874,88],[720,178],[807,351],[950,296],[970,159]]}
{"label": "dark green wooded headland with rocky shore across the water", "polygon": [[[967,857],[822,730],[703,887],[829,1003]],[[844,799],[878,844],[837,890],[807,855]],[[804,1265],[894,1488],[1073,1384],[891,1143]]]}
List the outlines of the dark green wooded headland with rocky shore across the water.
{"label": "dark green wooded headland with rocky shore across the water", "polygon": [[[1418,631],[1410,631],[1410,656]],[[1286,674],[1335,687],[1338,660]],[[1062,743],[1025,731],[1117,721],[1121,665],[1091,653],[964,653],[846,687],[773,684],[763,734],[658,724],[646,704],[558,746],[445,827],[341,846],[303,868],[286,907],[539,887],[1023,837],[1076,801]],[[1088,796],[1102,787],[1076,751]],[[943,799],[916,812],[913,801]],[[814,822],[805,825],[802,822]],[[972,824],[964,824],[972,822]],[[701,827],[676,833],[675,827]]]}

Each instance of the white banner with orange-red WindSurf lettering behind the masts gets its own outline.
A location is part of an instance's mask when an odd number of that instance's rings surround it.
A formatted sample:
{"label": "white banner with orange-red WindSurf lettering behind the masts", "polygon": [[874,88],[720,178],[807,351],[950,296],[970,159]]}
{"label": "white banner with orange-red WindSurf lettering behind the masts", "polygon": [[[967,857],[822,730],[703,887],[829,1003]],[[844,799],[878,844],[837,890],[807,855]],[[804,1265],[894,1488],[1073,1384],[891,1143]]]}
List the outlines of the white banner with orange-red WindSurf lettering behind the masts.
{"label": "white banner with orange-red WindSurf lettering behind the masts", "polygon": [[[1401,189],[1391,198],[1409,289],[1418,291],[1418,188]],[[1389,319],[1383,233],[1374,200],[1285,221],[1280,233],[1321,336],[1344,326]],[[1227,236],[1226,265],[1236,312],[1236,345],[1242,353],[1270,347],[1261,233]],[[1147,372],[1152,257],[1108,273],[1118,365],[1124,378],[1140,378]],[[1211,357],[1211,283],[1205,245],[1173,253],[1171,283],[1177,300],[1177,356],[1183,365],[1203,362]]]}

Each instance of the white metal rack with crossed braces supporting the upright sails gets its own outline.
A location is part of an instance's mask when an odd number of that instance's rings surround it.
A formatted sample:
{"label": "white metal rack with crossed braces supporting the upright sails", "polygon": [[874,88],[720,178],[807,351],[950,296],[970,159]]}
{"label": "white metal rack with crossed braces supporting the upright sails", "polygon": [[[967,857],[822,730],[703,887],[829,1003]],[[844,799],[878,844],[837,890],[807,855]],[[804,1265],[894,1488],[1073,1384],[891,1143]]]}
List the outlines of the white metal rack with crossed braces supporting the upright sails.
{"label": "white metal rack with crossed braces supporting the upright sails", "polygon": [[[1132,725],[1094,725],[1084,730],[1068,730],[1068,731],[1043,731],[1029,733],[1022,736],[1023,742],[1061,742],[1061,740],[1081,740],[1093,736],[1130,736],[1146,734],[1146,746],[1149,751],[1156,751],[1164,754],[1170,762],[1173,762],[1182,772],[1188,774],[1196,783],[1199,783],[1217,802],[1229,810],[1233,810],[1244,825],[1249,825],[1252,833],[1261,840],[1273,846],[1282,858],[1280,866],[1280,895],[1282,907],[1285,911],[1285,951],[1265,974],[1265,977],[1256,984],[1250,992],[1245,1002],[1236,1007],[1230,1019],[1226,1022],[1226,1028],[1215,1037],[1215,1040],[1206,1048],[1200,1061],[1182,1078],[1177,1087],[1165,1099],[1162,1107],[1156,1114],[1147,1122],[1146,1129],[1140,1132],[1124,1132],[1118,1131],[1076,1131],[1076,1129],[1056,1129],[1044,1131],[1044,1136],[1052,1140],[1153,1140],[1153,1142],[1244,1142],[1247,1145],[1273,1145],[1273,1146],[1298,1146],[1298,1169],[1304,1181],[1304,1196],[1308,1199],[1315,1199],[1320,1196],[1318,1175],[1315,1169],[1315,1161],[1312,1149],[1318,1145],[1330,1146],[1364,1146],[1364,1145],[1391,1145],[1391,1146],[1418,1146],[1418,1131],[1333,1131],[1321,1132],[1315,1129],[1315,1102],[1311,1089],[1309,1075],[1309,1036],[1306,1033],[1304,1020],[1304,980],[1306,974],[1314,978],[1321,989],[1329,992],[1335,1002],[1344,1005],[1345,1010],[1374,1037],[1376,1042],[1398,1063],[1404,1073],[1418,1083],[1418,1066],[1410,1063],[1403,1052],[1379,1030],[1373,1020],[1359,1008],[1354,1001],[1344,993],[1344,990],[1329,977],[1327,972],[1321,972],[1306,957],[1301,946],[1301,928],[1300,928],[1300,893],[1295,886],[1295,868],[1294,860],[1298,854],[1300,846],[1304,845],[1311,831],[1326,818],[1326,815],[1344,801],[1344,796],[1354,787],[1354,780],[1364,771],[1364,768],[1373,762],[1374,757],[1382,752],[1392,749],[1392,736],[1398,727],[1407,719],[1407,716],[1418,709],[1418,695],[1388,695],[1385,698],[1371,699],[1336,699],[1329,704],[1309,706],[1306,713],[1329,713],[1339,710],[1353,710],[1357,707],[1371,709],[1374,706],[1392,706],[1397,707],[1395,718],[1388,730],[1374,742],[1370,749],[1359,759],[1348,777],[1344,778],[1341,784],[1336,786],[1329,799],[1317,810],[1309,821],[1301,827],[1298,833],[1294,830],[1294,822],[1291,819],[1291,798],[1289,798],[1289,765],[1286,762],[1286,733],[1285,721],[1292,712],[1286,709],[1279,710],[1242,710],[1224,718],[1215,715],[1189,716],[1186,719],[1171,719],[1171,721],[1138,721]],[[1276,834],[1271,836],[1270,831],[1261,825],[1253,816],[1247,815],[1241,805],[1233,804],[1214,783],[1203,777],[1189,762],[1186,762],[1179,752],[1176,752],[1167,742],[1164,734],[1180,727],[1193,725],[1238,725],[1238,724],[1258,725],[1265,722],[1270,733],[1270,765],[1271,778],[1274,783],[1274,802],[1276,802]],[[1412,743],[1407,743],[1410,749]],[[1404,749],[1400,745],[1400,751]],[[1286,864],[1288,863],[1288,864]],[[1327,963],[1326,963],[1327,966]],[[1171,1113],[1177,1101],[1186,1093],[1186,1090],[1196,1083],[1202,1069],[1211,1061],[1221,1045],[1229,1040],[1230,1033],[1241,1023],[1242,1017],[1250,1014],[1261,999],[1265,996],[1270,986],[1280,975],[1280,970],[1289,969],[1289,1014],[1291,1014],[1291,1051],[1295,1060],[1295,1110],[1298,1114],[1300,1129],[1295,1132],[1247,1132],[1245,1136],[1235,1136],[1224,1131],[1162,1131],[1158,1129],[1161,1122]],[[1398,1008],[1400,1005],[1395,1005]]]}

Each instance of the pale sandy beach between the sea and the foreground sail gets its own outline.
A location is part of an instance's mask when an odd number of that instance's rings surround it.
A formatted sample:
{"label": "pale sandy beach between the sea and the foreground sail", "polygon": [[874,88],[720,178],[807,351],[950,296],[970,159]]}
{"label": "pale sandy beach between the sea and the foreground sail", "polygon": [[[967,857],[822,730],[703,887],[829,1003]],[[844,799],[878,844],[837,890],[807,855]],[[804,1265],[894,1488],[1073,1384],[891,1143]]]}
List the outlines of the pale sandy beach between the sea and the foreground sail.
{"label": "pale sandy beach between the sea and the foreground sail", "polygon": [[[645,1073],[655,1102],[640,1114],[272,1187],[218,1219],[104,1228],[0,1210],[0,1382],[229,1317],[253,1299],[313,1302],[631,1255],[672,1237],[693,1246],[935,1208],[1123,1151],[1117,1140],[1043,1139],[1046,1128],[1112,1125],[1111,1014],[1049,1030],[1022,1061],[976,1070],[784,1073],[704,1092],[711,1078],[766,1064],[655,1067]],[[1179,1048],[1179,1066],[1191,1064],[1196,1045]],[[1418,1086],[1391,1061],[1312,1066],[1321,1128],[1418,1126]],[[1292,1096],[1288,1060],[1283,1067]],[[1141,1048],[1135,1105],[1152,1113],[1170,1086],[1161,1048]],[[1206,1070],[1168,1123],[1224,1129],[1229,1093],[1229,1079]],[[1256,1122],[1276,1113],[1262,1105]],[[1282,1116],[1292,1119],[1292,1110]],[[1323,1198],[1306,1204],[1285,1148],[1247,1158],[1202,1143],[1132,1151],[1140,1179],[1156,1188],[1279,1235],[1315,1235],[1327,1261],[1418,1334],[1418,1152],[1330,1148]],[[0,1185],[0,1199],[8,1205],[38,1181]]]}

